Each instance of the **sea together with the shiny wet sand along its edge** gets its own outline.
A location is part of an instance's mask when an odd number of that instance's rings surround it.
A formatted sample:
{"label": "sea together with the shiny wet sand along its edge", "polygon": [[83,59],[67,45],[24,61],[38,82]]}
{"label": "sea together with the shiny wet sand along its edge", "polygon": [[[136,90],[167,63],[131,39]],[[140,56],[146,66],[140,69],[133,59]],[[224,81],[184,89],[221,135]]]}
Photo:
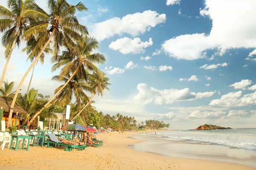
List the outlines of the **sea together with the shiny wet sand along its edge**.
{"label": "sea together with the shiny wet sand along its edge", "polygon": [[147,140],[130,147],[163,156],[220,161],[256,167],[256,128],[169,130],[140,133]]}

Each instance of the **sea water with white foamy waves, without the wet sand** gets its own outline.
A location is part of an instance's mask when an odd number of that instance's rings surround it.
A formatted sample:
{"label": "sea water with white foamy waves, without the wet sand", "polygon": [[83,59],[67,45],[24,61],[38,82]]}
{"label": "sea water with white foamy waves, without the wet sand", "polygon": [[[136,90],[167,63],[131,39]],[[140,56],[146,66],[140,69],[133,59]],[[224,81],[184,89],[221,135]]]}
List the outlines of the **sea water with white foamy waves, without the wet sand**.
{"label": "sea water with white foamy waves, without the wet sand", "polygon": [[189,143],[220,144],[231,148],[256,150],[256,129],[186,130],[159,134],[163,138],[183,140]]}

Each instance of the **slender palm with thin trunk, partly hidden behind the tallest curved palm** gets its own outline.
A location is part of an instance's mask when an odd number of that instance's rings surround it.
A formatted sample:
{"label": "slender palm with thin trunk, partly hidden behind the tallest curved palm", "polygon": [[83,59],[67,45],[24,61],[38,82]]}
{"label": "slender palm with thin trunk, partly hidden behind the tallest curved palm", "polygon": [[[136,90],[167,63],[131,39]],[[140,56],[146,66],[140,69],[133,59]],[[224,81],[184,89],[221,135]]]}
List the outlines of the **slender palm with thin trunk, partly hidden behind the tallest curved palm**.
{"label": "slender palm with thin trunk, partly hidden behind the tallest curved palm", "polygon": [[[32,37],[32,38],[26,43],[26,48],[23,48],[23,49],[22,49],[22,52],[26,51],[27,55],[29,55],[29,57],[28,57],[27,60],[30,60],[31,62],[33,62],[33,60],[35,59],[35,57],[36,57],[36,56],[40,53],[40,51],[41,51],[41,46],[37,46],[36,44],[37,44],[37,41],[36,41],[35,37]],[[49,48],[49,44],[48,44],[47,48],[45,48],[44,53],[46,53],[46,54],[52,53],[52,49]],[[44,63],[44,57],[45,57],[45,54],[44,54],[44,53],[42,53],[42,55],[41,55],[41,57],[40,57],[40,62],[41,62],[41,64]],[[29,93],[29,88],[30,88],[30,85],[31,85],[31,82],[32,82],[34,70],[35,70],[35,65],[33,66],[33,69],[32,69],[32,74],[31,74],[31,78],[30,78],[30,81],[29,81],[29,86],[28,86],[28,89],[27,89],[26,94]]]}

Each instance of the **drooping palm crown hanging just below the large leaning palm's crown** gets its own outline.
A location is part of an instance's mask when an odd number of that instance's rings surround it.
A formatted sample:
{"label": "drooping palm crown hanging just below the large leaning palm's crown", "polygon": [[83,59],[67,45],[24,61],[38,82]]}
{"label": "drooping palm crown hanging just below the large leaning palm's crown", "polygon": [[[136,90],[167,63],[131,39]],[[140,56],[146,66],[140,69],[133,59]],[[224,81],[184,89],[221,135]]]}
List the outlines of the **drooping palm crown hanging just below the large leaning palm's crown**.
{"label": "drooping palm crown hanging just below the large leaning palm's crown", "polygon": [[[52,77],[53,80],[57,80],[59,82],[67,82],[70,78],[70,74],[67,76],[59,76],[56,75]],[[63,85],[59,86],[55,89],[55,93],[62,88]],[[85,82],[84,79],[78,78],[76,75],[68,82],[68,84],[62,89],[61,93],[59,93],[56,98],[59,100],[59,106],[64,107],[65,105],[70,105],[72,101],[73,95],[76,98],[76,104],[78,109],[81,109],[81,99],[88,98],[84,91],[91,91],[92,88],[88,83]],[[88,99],[89,100],[89,99]]]}

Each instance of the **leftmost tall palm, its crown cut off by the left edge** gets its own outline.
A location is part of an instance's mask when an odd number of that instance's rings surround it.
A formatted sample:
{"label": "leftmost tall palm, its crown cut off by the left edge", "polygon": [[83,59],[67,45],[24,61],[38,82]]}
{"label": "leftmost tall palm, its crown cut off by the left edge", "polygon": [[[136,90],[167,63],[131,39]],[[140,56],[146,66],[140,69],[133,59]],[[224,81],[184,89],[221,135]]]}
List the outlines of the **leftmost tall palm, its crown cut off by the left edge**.
{"label": "leftmost tall palm, its crown cut off by the left edge", "polygon": [[23,30],[29,24],[29,18],[23,14],[34,6],[34,2],[33,0],[8,0],[7,5],[10,9],[0,6],[0,32],[4,32],[2,44],[6,48],[6,64],[3,68],[0,87],[2,86],[12,51],[15,45],[19,47]]}

